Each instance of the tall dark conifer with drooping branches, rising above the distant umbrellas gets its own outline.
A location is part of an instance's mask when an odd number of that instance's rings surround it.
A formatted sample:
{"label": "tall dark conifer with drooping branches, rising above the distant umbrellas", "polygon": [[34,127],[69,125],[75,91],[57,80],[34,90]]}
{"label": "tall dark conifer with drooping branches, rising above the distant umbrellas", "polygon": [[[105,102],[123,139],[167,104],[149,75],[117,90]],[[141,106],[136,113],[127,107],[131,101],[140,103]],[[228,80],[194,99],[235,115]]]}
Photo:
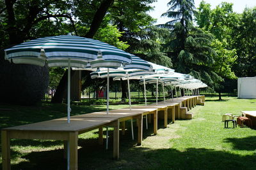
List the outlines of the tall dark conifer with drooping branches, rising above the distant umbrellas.
{"label": "tall dark conifer with drooping branches, rising above the distant umbrellas", "polygon": [[170,29],[166,52],[173,61],[173,68],[180,73],[190,73],[208,84],[212,84],[216,73],[211,71],[216,52],[211,48],[213,37],[193,26],[195,4],[193,0],[172,0],[163,16],[173,18],[159,25]]}

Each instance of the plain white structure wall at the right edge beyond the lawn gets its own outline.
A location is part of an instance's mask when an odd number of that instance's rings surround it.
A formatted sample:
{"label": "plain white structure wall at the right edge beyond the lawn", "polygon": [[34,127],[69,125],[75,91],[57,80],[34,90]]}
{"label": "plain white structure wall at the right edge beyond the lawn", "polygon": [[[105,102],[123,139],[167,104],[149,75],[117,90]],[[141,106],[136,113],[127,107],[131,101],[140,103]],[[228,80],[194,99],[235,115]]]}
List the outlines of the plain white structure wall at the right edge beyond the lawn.
{"label": "plain white structure wall at the right edge beyond the lawn", "polygon": [[241,99],[256,99],[256,76],[238,78],[237,97]]}

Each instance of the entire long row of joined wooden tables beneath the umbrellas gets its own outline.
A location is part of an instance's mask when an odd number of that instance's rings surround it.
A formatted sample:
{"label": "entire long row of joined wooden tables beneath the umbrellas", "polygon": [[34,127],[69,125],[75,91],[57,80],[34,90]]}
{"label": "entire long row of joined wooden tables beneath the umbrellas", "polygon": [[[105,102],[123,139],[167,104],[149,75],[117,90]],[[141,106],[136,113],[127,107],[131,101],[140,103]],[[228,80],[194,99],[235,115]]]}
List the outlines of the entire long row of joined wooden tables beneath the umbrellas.
{"label": "entire long row of joined wooden tables beneath the umbrellas", "polygon": [[[179,97],[178,99],[169,99],[166,102],[150,104],[148,106],[132,106],[118,110],[111,110],[109,114],[106,111],[76,115],[70,117],[70,124],[67,118],[58,118],[35,124],[19,125],[15,127],[4,128],[2,134],[2,159],[3,169],[10,169],[10,139],[56,139],[69,141],[70,145],[70,169],[77,169],[77,140],[78,135],[84,132],[99,128],[99,141],[103,141],[102,127],[114,127],[113,132],[113,157],[119,157],[119,125],[126,120],[136,118],[138,121],[138,145],[142,143],[143,133],[143,115],[154,115],[154,134],[157,134],[157,111],[164,111],[164,127],[167,126],[168,109],[172,108],[172,121],[175,121],[175,113],[180,117],[180,107],[182,102],[193,99],[195,96]],[[188,105],[188,103],[186,104]],[[192,104],[189,103],[191,106]],[[248,112],[246,112],[246,115]],[[256,114],[256,113],[255,113]],[[123,129],[122,129],[123,130]],[[65,147],[65,145],[64,145]],[[67,149],[67,148],[65,148]]]}

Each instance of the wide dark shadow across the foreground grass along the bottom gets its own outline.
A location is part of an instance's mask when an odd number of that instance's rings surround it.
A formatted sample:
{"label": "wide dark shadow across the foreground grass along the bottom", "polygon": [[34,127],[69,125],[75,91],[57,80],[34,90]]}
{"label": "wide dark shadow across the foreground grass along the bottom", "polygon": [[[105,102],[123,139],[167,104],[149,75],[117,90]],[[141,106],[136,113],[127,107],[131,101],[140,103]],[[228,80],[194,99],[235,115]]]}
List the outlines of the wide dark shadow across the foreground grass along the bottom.
{"label": "wide dark shadow across the foreground grass along the bottom", "polygon": [[[121,144],[120,159],[113,160],[113,148],[84,145],[78,150],[79,169],[256,169],[256,155],[236,155],[205,148],[155,149]],[[26,162],[12,169],[65,169],[63,150],[31,152],[22,157]],[[243,161],[242,161],[243,160]]]}

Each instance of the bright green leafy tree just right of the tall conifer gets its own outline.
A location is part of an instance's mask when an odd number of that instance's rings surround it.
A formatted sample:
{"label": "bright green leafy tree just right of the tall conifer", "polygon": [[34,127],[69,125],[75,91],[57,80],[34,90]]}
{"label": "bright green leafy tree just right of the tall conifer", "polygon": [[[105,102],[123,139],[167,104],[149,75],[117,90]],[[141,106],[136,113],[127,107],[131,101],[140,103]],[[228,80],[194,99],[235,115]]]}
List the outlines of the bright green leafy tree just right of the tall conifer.
{"label": "bright green leafy tree just right of the tall conifer", "polygon": [[[230,85],[226,87],[225,81],[236,83],[232,81],[236,79],[233,67],[237,61],[237,50],[234,49],[233,44],[234,37],[237,35],[237,31],[235,33],[234,30],[239,23],[239,15],[233,12],[232,5],[232,3],[224,2],[211,10],[211,5],[202,1],[195,18],[200,28],[211,32],[216,38],[212,43],[212,47],[217,53],[212,70],[221,76],[213,83],[214,89],[219,93],[219,99],[221,99],[221,92],[230,88]],[[232,35],[233,32],[234,35]]]}

